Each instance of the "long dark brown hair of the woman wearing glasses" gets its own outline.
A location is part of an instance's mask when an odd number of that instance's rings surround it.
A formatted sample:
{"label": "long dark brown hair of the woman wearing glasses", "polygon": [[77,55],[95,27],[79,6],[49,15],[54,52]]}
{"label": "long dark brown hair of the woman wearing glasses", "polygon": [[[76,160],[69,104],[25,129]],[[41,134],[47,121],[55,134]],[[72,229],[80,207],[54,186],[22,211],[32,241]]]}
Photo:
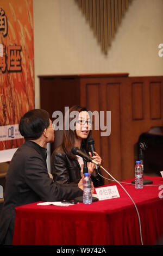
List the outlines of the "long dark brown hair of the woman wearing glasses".
{"label": "long dark brown hair of the woman wearing glasses", "polygon": [[[86,111],[88,112],[89,110],[86,107],[80,107],[80,106],[73,106],[69,109],[69,112],[67,113],[67,117],[65,114],[64,117],[64,130],[63,130],[63,134],[62,134],[62,143],[61,143],[61,148],[62,150],[65,151],[65,153],[68,155],[68,157],[70,159],[77,159],[76,156],[74,156],[71,153],[71,149],[74,147],[74,142],[75,142],[75,137],[77,138],[77,133],[76,130],[73,131],[71,129],[65,130],[65,118],[69,119],[69,124],[71,123],[71,120],[73,118],[70,117],[70,113],[72,111],[78,111],[79,113],[82,111]],[[70,127],[69,127],[70,128]],[[87,141],[91,138],[91,131],[89,132],[89,135],[87,136],[86,139],[82,140],[82,145],[83,147],[87,150]],[[88,150],[87,150],[88,151]]]}

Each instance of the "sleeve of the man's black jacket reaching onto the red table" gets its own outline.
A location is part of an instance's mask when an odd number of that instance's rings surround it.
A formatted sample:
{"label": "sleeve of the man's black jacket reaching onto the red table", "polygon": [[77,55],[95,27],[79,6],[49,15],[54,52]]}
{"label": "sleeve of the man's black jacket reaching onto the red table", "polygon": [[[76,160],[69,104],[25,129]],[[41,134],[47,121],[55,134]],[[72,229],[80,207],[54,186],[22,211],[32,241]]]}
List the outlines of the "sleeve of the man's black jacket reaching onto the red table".
{"label": "sleeve of the man's black jacket reaching onto the red table", "polygon": [[42,201],[54,202],[62,199],[74,199],[83,195],[78,187],[66,187],[49,178],[45,162],[40,156],[30,156],[25,168],[26,184]]}

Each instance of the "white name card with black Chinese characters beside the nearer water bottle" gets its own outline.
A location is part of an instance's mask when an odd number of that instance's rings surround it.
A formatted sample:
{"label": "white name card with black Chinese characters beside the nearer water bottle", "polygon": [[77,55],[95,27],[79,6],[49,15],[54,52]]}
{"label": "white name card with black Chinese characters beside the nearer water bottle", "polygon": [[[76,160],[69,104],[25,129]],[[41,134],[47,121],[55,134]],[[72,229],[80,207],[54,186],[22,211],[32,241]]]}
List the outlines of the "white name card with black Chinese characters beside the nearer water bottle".
{"label": "white name card with black Chinese characters beside the nearer water bottle", "polygon": [[98,188],[95,188],[95,190],[99,200],[106,200],[106,199],[120,197],[120,194],[117,190],[117,186],[98,187]]}

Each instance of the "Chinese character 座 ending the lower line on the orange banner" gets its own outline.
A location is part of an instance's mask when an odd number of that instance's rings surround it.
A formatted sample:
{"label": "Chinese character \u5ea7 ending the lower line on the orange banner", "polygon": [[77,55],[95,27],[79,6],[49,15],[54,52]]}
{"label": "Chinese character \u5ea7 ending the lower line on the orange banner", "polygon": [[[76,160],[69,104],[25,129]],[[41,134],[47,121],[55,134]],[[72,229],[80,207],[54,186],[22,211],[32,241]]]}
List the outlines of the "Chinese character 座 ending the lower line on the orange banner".
{"label": "Chinese character \u5ea7 ending the lower line on the orange banner", "polygon": [[12,45],[8,47],[8,71],[21,71],[21,52],[20,45]]}

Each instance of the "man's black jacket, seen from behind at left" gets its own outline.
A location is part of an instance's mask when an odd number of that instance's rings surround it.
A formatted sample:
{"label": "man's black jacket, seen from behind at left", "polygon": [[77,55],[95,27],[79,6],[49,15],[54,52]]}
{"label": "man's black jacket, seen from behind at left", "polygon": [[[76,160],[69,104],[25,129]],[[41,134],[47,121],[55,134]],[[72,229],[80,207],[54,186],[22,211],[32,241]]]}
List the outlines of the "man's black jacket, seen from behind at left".
{"label": "man's black jacket, seen from behind at left", "polygon": [[73,199],[83,195],[80,188],[60,185],[49,178],[46,156],[45,148],[26,141],[12,157],[0,218],[0,243],[3,243],[10,223],[14,225],[16,206],[37,201]]}

